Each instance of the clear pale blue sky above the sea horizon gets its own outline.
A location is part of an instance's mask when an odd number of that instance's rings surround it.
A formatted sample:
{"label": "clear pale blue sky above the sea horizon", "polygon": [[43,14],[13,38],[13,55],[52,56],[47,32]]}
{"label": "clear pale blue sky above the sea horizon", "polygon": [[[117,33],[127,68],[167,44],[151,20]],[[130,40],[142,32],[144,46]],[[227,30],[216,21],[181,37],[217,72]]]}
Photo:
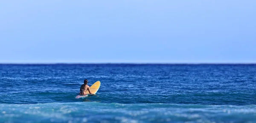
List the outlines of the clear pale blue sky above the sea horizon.
{"label": "clear pale blue sky above the sea horizon", "polygon": [[256,0],[2,0],[0,63],[256,63]]}

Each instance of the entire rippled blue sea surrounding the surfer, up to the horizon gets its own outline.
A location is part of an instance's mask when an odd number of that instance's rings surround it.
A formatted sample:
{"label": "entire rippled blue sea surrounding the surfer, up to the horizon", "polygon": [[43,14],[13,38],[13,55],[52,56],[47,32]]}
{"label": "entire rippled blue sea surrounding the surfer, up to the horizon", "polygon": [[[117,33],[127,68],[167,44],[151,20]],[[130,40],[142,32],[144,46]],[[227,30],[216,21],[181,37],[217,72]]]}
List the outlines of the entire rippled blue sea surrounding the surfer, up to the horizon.
{"label": "entire rippled blue sea surrounding the surfer, up to the horizon", "polygon": [[256,65],[1,64],[0,123],[51,122],[256,123]]}

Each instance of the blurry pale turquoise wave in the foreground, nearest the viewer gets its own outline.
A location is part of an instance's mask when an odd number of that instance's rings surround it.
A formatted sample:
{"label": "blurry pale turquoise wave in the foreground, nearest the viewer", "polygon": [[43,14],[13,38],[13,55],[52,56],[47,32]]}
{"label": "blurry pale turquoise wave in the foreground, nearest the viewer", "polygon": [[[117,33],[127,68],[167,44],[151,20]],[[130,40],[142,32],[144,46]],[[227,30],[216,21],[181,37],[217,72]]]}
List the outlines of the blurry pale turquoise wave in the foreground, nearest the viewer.
{"label": "blurry pale turquoise wave in the foreground, nearest the viewer", "polygon": [[0,113],[0,121],[8,123],[256,122],[256,105],[98,102],[0,104]]}

